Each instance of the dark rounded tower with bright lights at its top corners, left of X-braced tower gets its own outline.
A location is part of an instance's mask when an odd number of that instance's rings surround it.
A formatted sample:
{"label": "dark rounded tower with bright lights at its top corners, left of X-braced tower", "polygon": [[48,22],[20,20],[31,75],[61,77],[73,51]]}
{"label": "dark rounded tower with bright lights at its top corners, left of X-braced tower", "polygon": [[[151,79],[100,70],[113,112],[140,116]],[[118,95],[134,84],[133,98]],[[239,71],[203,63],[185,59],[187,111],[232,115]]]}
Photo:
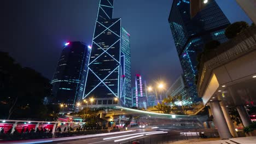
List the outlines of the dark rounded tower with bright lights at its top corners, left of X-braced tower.
{"label": "dark rounded tower with bright lights at its top corners, left of X-braced tower", "polygon": [[67,105],[69,110],[74,108],[76,101],[84,91],[83,73],[87,71],[91,47],[80,41],[72,41],[63,47],[53,80],[54,104]]}

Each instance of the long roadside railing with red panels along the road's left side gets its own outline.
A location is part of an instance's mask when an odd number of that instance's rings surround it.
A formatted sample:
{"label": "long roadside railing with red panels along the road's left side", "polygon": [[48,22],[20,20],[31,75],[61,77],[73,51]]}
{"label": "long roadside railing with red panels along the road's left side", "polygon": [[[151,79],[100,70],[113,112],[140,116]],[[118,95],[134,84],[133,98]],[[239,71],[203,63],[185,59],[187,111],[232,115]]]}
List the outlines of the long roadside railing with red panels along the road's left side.
{"label": "long roadside railing with red panels along the road's left side", "polygon": [[120,129],[85,127],[85,122],[19,121],[0,119],[0,140],[46,139],[74,135],[102,134]]}

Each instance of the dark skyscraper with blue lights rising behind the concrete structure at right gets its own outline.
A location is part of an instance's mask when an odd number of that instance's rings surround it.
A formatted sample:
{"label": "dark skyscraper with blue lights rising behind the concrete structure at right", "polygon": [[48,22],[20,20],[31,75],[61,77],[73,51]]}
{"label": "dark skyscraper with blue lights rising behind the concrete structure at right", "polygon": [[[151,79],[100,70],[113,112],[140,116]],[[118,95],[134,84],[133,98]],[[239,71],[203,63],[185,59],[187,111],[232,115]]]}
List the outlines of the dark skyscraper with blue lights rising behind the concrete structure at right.
{"label": "dark skyscraper with blue lights rising behind the concrete structure at right", "polygon": [[197,55],[202,52],[204,44],[211,40],[224,43],[225,28],[229,20],[214,0],[204,3],[203,9],[193,18],[190,16],[190,1],[174,0],[168,22],[171,27],[174,43],[183,68],[185,85],[192,101],[197,97],[195,76],[197,74]]}

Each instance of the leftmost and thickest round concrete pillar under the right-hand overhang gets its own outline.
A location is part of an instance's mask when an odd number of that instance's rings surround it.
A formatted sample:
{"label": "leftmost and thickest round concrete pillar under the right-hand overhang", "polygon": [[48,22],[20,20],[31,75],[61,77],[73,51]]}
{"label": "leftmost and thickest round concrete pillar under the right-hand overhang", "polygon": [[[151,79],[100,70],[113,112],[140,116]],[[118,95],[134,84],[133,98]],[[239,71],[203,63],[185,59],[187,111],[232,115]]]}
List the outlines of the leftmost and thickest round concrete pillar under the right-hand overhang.
{"label": "leftmost and thickest round concrete pillar under the right-hand overhang", "polygon": [[211,101],[210,107],[212,110],[214,122],[217,125],[220,139],[230,139],[232,135],[230,134],[229,127],[226,124],[225,117],[220,107],[219,101]]}

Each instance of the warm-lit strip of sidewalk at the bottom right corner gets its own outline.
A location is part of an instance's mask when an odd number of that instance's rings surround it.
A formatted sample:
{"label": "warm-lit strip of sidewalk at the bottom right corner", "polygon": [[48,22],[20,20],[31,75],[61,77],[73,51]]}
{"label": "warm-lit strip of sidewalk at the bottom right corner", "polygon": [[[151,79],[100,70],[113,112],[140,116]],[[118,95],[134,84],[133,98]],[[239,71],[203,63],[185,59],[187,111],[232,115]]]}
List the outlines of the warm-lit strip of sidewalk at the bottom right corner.
{"label": "warm-lit strip of sidewalk at the bottom right corner", "polygon": [[252,144],[256,143],[256,136],[238,137],[229,140],[219,140],[219,138],[210,139],[191,139],[176,142],[169,142],[171,144]]}

